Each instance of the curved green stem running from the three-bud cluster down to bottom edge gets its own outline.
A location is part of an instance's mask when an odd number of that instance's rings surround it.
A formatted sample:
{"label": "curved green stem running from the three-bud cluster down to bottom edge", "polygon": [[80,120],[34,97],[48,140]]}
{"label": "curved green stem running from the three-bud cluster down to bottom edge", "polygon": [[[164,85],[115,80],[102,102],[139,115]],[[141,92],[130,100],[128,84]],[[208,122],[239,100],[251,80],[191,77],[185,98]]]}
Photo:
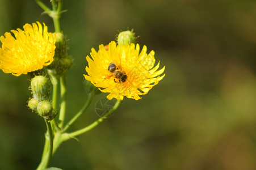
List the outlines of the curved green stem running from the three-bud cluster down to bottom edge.
{"label": "curved green stem running from the three-bud cluster down to bottom edge", "polygon": [[41,163],[39,164],[39,166],[37,167],[37,170],[41,170],[41,169],[45,169],[48,167],[48,165],[51,162],[52,159],[52,151],[53,151],[53,135],[52,135],[52,126],[51,126],[51,122],[48,122],[48,120],[45,120],[45,124],[47,126],[47,131],[48,131],[48,141],[49,141],[49,145],[48,145],[48,153],[45,154],[44,158],[42,159]]}

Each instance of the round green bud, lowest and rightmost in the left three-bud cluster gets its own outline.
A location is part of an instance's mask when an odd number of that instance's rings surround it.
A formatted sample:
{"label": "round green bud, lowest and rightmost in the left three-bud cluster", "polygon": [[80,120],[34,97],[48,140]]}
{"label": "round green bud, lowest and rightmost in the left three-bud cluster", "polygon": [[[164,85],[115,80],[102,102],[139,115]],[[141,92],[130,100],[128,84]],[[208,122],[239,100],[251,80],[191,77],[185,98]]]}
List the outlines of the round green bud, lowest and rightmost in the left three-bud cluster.
{"label": "round green bud, lowest and rightmost in the left three-bud cluster", "polygon": [[40,101],[37,105],[39,116],[48,119],[52,114],[52,102],[49,100]]}

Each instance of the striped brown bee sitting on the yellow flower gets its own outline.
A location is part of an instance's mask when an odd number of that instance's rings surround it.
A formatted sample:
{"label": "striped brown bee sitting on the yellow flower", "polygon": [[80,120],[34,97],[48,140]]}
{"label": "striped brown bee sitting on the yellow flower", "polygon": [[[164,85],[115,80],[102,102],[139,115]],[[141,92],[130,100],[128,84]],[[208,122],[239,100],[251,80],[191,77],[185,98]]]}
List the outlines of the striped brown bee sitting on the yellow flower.
{"label": "striped brown bee sitting on the yellow flower", "polygon": [[[127,75],[123,70],[120,70],[114,62],[111,62],[110,65],[108,65],[108,71],[110,71],[114,76],[106,76],[105,79],[110,79],[111,77],[115,77],[119,80],[119,83],[124,83],[127,80]],[[116,82],[116,80],[114,79]],[[117,82],[116,82],[117,83]]]}

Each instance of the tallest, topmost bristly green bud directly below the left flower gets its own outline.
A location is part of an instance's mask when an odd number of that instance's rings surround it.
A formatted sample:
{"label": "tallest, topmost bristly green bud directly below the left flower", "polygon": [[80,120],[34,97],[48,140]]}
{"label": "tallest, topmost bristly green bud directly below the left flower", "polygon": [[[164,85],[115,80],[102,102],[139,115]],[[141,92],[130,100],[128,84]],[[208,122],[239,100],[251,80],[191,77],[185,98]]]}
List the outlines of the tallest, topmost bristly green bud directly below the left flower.
{"label": "tallest, topmost bristly green bud directly below the left flower", "polygon": [[31,79],[31,90],[37,101],[48,100],[50,97],[50,84],[48,78],[43,75]]}

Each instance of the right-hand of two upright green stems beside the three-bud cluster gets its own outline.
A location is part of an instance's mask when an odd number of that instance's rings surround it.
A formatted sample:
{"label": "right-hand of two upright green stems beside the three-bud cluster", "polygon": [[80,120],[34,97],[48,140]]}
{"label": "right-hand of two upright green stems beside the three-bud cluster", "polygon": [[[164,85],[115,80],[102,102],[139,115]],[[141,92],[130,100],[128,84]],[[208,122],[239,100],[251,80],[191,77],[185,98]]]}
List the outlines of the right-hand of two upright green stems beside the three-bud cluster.
{"label": "right-hand of two upright green stems beside the three-bud cluster", "polygon": [[65,121],[66,114],[66,76],[63,75],[60,78],[60,90],[61,90],[61,104],[60,104],[60,128],[62,128]]}

